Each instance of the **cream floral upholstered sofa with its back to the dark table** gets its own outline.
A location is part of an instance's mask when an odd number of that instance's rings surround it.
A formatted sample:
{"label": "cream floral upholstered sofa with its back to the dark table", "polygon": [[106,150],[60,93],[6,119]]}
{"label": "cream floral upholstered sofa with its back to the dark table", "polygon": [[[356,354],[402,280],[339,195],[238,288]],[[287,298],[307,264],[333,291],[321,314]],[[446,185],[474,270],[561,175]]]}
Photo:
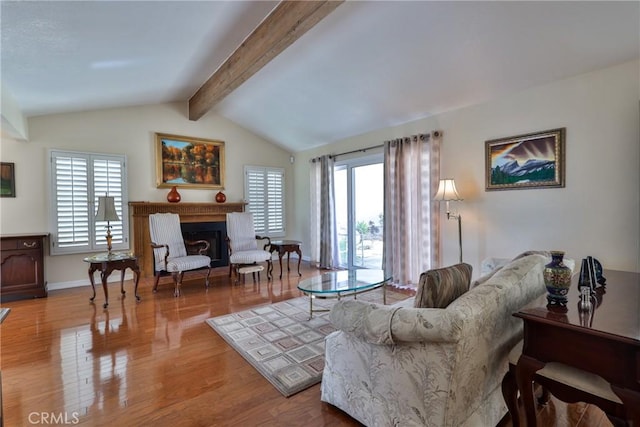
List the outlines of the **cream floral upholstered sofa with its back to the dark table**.
{"label": "cream floral upholstered sofa with its back to the dark table", "polygon": [[495,426],[507,412],[507,356],[522,339],[512,314],[545,303],[549,261],[518,257],[446,308],[336,303],[321,399],[367,426]]}

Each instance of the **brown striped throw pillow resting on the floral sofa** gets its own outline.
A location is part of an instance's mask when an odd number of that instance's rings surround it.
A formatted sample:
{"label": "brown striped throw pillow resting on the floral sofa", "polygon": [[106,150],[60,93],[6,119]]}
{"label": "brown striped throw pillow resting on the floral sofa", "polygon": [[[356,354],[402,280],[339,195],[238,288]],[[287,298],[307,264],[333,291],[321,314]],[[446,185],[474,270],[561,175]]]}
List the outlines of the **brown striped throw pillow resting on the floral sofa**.
{"label": "brown striped throw pillow resting on the floral sofa", "polygon": [[446,308],[469,290],[473,267],[466,263],[428,270],[420,275],[416,308]]}

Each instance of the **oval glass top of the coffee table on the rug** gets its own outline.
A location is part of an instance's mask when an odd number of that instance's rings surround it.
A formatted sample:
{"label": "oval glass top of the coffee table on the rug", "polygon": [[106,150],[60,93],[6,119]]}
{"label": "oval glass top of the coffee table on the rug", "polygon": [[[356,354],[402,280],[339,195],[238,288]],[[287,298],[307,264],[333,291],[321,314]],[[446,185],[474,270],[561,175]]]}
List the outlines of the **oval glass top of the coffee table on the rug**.
{"label": "oval glass top of the coffee table on the rug", "polygon": [[357,292],[382,286],[391,277],[383,270],[338,270],[323,273],[300,282],[298,289],[314,294]]}

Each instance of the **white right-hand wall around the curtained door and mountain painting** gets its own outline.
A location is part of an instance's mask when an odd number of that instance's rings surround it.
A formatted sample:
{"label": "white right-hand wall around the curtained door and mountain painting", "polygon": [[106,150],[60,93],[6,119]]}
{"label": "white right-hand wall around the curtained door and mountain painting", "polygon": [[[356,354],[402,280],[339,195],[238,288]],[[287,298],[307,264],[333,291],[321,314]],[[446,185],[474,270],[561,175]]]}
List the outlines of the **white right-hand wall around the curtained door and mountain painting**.
{"label": "white right-hand wall around the curtained door and mountain painting", "polygon": [[[476,274],[485,257],[528,249],[564,250],[578,261],[592,255],[605,268],[640,271],[638,76],[640,63],[632,61],[298,153],[294,232],[309,229],[310,158],[440,129],[441,175],[455,178],[465,199],[454,208],[463,218],[464,260]],[[485,141],[559,127],[566,128],[565,188],[485,191]],[[441,227],[442,264],[453,264],[456,222]]]}

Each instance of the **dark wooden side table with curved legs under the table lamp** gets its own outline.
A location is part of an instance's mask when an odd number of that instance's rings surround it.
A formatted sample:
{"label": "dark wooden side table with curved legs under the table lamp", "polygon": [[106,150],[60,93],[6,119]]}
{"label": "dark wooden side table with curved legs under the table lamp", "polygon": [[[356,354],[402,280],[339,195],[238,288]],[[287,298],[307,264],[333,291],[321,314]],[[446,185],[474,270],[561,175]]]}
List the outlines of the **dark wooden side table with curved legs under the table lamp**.
{"label": "dark wooden side table with curved legs under the table lamp", "polygon": [[127,268],[130,268],[135,276],[135,288],[134,295],[136,300],[140,301],[138,296],[138,281],[140,280],[140,267],[138,266],[138,257],[129,253],[112,252],[93,255],[84,259],[84,262],[89,263],[89,280],[91,281],[91,289],[93,290],[93,296],[89,298],[89,301],[93,302],[96,297],[96,287],[93,281],[93,273],[100,271],[100,279],[102,281],[102,289],[104,290],[104,305],[103,308],[109,306],[109,291],[107,289],[107,279],[113,272],[113,270],[120,270],[120,293],[124,295],[124,273]]}

